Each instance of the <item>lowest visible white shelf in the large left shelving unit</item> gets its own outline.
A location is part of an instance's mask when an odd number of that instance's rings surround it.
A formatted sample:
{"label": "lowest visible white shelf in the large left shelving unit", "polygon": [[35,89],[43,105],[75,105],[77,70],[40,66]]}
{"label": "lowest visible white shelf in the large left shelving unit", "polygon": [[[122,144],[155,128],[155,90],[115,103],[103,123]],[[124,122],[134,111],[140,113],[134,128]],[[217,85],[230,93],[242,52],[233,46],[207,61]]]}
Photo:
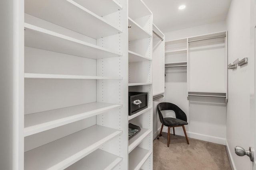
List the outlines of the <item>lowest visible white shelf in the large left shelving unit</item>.
{"label": "lowest visible white shelf in the large left shelving unit", "polygon": [[121,161],[121,157],[97,149],[65,170],[112,170]]}

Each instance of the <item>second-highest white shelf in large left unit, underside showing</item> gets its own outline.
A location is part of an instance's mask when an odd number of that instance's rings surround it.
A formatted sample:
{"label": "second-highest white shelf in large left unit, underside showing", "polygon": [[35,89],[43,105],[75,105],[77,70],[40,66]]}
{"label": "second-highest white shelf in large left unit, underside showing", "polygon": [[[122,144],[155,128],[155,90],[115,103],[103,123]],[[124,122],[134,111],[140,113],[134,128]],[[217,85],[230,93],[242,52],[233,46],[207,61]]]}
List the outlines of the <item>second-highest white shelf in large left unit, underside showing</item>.
{"label": "second-highest white shelf in large left unit, underside showing", "polygon": [[[97,0],[98,4],[101,4],[102,2],[99,1]],[[92,6],[95,6],[97,2]],[[111,1],[108,0],[108,2]],[[100,9],[102,8],[98,10]],[[122,32],[104,18],[72,0],[25,0],[25,13],[94,39]]]}

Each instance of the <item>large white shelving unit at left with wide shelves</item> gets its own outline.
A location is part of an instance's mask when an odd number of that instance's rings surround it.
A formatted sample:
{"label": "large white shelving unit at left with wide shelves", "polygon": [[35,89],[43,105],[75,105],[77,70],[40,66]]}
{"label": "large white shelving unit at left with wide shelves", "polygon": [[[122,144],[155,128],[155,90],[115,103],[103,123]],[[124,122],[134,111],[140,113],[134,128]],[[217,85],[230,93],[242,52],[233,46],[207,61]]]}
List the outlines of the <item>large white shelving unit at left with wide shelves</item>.
{"label": "large white shelving unit at left with wide shelves", "polygon": [[24,0],[19,170],[128,169],[126,4]]}

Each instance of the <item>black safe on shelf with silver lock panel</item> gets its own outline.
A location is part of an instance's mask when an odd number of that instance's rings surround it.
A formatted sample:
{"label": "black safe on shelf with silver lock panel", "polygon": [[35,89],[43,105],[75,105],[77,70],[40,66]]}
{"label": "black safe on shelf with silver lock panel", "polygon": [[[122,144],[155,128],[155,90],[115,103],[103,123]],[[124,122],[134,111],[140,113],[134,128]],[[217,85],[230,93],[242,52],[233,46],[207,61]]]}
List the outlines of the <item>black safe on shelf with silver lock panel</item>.
{"label": "black safe on shelf with silver lock panel", "polygon": [[148,107],[148,93],[129,92],[128,115],[133,115]]}

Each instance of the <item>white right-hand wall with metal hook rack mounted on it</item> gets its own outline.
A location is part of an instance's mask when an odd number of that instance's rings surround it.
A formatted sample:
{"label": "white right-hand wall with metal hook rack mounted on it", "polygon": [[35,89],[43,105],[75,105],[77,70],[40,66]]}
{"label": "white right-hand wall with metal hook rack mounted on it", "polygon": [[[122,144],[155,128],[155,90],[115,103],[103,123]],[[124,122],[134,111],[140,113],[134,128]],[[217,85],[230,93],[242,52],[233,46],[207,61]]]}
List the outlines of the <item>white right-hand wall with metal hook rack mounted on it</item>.
{"label": "white right-hand wall with metal hook rack mounted on it", "polygon": [[[228,63],[249,57],[250,51],[250,0],[232,0],[227,17]],[[250,86],[248,64],[228,70],[227,146],[234,161],[235,169],[249,170],[250,159],[240,157],[234,147],[248,149],[250,134]],[[252,135],[252,134],[251,134]],[[246,162],[246,164],[245,164]]]}

